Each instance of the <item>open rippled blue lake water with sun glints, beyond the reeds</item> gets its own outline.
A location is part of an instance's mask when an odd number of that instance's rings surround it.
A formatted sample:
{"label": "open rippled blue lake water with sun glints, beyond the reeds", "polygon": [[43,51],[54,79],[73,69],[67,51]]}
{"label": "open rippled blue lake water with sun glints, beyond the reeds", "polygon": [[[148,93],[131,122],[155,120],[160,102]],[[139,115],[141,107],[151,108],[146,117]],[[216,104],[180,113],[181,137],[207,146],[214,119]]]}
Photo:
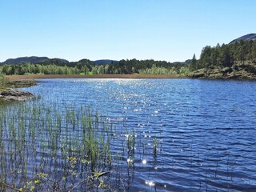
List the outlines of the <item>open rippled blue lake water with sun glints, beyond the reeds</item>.
{"label": "open rippled blue lake water with sun glints, beyond the reeds", "polygon": [[[126,190],[256,191],[254,81],[42,79],[26,90],[60,109],[90,106],[119,130],[135,130]],[[118,139],[112,145],[121,151]]]}

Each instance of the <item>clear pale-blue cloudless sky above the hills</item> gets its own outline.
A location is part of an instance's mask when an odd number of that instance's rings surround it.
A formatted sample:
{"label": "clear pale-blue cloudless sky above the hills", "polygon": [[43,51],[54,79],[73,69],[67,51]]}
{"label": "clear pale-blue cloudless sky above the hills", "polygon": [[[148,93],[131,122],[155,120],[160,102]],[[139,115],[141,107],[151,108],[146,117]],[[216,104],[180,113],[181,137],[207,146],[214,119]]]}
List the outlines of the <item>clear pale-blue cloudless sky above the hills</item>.
{"label": "clear pale-blue cloudless sky above the hills", "polygon": [[0,0],[0,62],[184,61],[202,47],[256,33],[255,0]]}

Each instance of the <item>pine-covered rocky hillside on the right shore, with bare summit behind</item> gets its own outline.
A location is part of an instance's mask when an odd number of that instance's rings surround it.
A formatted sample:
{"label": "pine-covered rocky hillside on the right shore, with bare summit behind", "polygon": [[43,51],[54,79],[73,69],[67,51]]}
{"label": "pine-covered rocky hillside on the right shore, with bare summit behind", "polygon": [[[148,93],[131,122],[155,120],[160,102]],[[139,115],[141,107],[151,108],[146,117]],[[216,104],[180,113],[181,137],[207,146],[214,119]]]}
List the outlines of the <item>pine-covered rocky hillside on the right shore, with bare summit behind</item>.
{"label": "pine-covered rocky hillside on the right shore, with bare summit behind", "polygon": [[246,34],[229,44],[205,46],[190,64],[192,78],[256,79],[256,34]]}

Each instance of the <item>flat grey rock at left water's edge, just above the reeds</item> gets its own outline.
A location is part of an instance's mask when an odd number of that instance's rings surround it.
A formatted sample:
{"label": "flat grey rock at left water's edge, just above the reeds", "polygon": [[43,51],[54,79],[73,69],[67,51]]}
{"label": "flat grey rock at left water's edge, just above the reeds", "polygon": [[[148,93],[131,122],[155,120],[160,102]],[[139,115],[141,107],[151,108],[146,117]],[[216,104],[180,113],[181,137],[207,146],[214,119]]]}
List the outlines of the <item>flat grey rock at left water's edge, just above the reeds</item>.
{"label": "flat grey rock at left water's edge, just above the reeds", "polygon": [[25,101],[33,97],[33,94],[25,90],[9,89],[0,92],[0,99],[3,101]]}

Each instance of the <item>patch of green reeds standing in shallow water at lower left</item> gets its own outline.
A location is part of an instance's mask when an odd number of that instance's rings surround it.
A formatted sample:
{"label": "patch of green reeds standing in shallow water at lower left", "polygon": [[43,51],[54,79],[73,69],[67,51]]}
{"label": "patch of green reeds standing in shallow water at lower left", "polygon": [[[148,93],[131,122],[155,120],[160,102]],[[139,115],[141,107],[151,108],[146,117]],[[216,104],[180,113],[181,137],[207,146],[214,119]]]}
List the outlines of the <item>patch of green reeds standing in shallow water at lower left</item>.
{"label": "patch of green reeds standing in shallow water at lower left", "polygon": [[126,190],[135,162],[146,153],[156,158],[157,138],[148,139],[150,151],[135,130],[111,126],[83,106],[2,105],[0,190]]}

